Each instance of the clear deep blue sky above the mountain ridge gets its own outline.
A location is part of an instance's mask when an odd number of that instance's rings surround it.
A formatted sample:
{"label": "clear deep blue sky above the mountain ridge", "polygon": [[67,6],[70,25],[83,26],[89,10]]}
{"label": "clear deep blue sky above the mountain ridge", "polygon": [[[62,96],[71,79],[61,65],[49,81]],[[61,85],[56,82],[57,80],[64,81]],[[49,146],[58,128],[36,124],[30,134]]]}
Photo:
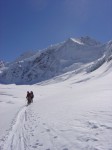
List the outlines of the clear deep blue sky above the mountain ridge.
{"label": "clear deep blue sky above the mountain ridge", "polygon": [[112,0],[0,0],[0,60],[81,36],[112,40]]}

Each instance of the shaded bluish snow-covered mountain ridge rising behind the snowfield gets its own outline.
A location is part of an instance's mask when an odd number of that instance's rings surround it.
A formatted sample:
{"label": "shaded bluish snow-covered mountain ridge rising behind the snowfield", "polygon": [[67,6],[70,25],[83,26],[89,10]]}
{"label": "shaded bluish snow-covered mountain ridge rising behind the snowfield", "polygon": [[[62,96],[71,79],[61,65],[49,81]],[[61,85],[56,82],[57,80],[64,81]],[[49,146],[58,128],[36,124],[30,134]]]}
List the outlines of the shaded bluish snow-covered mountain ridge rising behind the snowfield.
{"label": "shaded bluish snow-covered mountain ridge rising behind the snowfield", "polygon": [[88,36],[69,38],[44,50],[21,55],[0,74],[0,82],[32,84],[72,70],[91,72],[111,58],[112,41],[101,44]]}

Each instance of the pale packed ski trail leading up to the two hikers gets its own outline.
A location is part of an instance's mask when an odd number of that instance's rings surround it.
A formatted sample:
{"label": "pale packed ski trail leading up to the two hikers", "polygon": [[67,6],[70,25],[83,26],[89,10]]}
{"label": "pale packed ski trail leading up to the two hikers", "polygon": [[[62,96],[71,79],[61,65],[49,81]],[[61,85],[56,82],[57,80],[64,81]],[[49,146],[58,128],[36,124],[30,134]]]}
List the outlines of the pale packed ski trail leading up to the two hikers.
{"label": "pale packed ski trail leading up to the two hikers", "polygon": [[26,107],[23,107],[16,119],[15,123],[12,126],[12,130],[9,132],[6,142],[4,143],[4,150],[25,150],[26,143],[25,143],[25,132],[24,132],[24,124],[26,121],[27,115]]}

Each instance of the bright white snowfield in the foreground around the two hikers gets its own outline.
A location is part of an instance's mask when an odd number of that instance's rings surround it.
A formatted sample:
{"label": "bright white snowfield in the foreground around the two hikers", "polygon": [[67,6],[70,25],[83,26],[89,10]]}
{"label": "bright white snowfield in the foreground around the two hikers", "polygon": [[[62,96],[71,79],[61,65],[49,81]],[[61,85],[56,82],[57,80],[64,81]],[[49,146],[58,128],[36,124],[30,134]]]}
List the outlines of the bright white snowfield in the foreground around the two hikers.
{"label": "bright white snowfield in the foreground around the two hikers", "polygon": [[0,150],[112,150],[111,80],[109,59],[90,73],[0,85]]}

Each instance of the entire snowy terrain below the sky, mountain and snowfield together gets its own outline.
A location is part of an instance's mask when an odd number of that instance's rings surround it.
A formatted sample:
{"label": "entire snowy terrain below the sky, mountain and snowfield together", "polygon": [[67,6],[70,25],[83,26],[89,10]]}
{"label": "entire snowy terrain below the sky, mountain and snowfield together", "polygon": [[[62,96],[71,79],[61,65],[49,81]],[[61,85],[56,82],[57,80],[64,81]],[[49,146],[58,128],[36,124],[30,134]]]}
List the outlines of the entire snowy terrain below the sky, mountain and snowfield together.
{"label": "entire snowy terrain below the sky, mountain and snowfield together", "polygon": [[0,84],[0,150],[112,150],[112,41],[87,41],[2,67],[2,82],[36,84]]}

